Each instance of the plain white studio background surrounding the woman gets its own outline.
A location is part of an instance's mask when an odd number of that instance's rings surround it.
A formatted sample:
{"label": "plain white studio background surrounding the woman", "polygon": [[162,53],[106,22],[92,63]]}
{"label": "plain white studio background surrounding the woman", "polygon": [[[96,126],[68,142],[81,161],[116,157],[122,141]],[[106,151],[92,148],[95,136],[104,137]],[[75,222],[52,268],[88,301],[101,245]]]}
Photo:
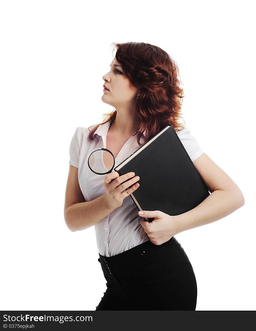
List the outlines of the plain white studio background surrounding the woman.
{"label": "plain white studio background surrounding the woman", "polygon": [[114,110],[102,76],[111,43],[127,41],[177,62],[186,127],[245,197],[176,235],[196,275],[196,310],[255,310],[252,4],[1,1],[2,310],[95,310],[103,297],[94,227],[70,231],[64,198],[71,138]]}

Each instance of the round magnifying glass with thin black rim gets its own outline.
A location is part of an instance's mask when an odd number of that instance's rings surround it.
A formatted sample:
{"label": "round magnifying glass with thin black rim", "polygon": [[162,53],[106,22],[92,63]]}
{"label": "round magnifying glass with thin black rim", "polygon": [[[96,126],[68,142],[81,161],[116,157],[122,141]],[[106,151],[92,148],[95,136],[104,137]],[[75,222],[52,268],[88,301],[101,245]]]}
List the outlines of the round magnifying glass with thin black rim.
{"label": "round magnifying glass with thin black rim", "polygon": [[[103,157],[109,166],[105,166]],[[106,175],[107,173],[112,172],[115,166],[115,157],[110,150],[106,148],[98,148],[92,151],[89,155],[88,166],[91,171],[97,175]]]}

